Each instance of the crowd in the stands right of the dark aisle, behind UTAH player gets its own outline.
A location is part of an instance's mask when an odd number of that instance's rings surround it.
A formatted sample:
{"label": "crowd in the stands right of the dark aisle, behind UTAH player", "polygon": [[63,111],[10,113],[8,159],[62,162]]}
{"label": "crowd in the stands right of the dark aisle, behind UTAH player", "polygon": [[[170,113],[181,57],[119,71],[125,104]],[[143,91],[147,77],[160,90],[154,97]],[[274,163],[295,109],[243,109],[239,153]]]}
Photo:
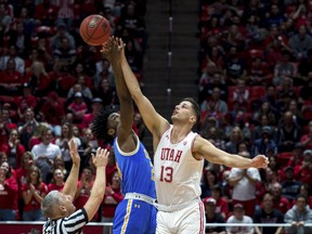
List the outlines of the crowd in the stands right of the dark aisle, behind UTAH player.
{"label": "crowd in the stands right of the dark aisle, behind UTAH player", "polygon": [[[268,169],[207,162],[202,198],[209,223],[291,227],[207,227],[206,233],[311,233],[312,1],[200,1],[198,131],[217,147]],[[218,225],[217,225],[218,226]]]}

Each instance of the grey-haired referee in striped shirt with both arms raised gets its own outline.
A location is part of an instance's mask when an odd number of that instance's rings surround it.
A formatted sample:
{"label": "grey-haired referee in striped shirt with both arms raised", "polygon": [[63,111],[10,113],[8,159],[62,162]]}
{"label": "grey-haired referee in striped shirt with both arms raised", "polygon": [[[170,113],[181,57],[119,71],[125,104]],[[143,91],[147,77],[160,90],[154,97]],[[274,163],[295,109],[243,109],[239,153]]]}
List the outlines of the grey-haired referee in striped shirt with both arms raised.
{"label": "grey-haired referee in striped shirt with both arms raised", "polygon": [[82,227],[96,213],[104,197],[105,168],[109,153],[99,147],[96,155],[92,155],[93,164],[96,167],[96,178],[91,195],[84,207],[75,211],[76,207],[73,205],[73,198],[77,190],[80,157],[73,139],[69,141],[69,151],[73,167],[63,192],[51,191],[41,203],[41,211],[48,218],[43,225],[43,233],[46,234],[82,233]]}

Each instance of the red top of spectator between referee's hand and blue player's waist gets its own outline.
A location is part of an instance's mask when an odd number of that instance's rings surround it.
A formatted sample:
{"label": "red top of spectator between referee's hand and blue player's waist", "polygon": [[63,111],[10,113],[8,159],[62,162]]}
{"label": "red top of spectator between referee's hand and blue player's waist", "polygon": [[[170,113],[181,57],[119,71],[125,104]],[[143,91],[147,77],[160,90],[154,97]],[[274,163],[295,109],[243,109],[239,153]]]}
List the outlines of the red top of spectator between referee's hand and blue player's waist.
{"label": "red top of spectator between referee's hand and blue player's waist", "polygon": [[[112,187],[113,188],[113,187]],[[118,204],[123,199],[120,188],[113,188],[113,195],[105,195],[102,202],[102,217],[114,218]]]}

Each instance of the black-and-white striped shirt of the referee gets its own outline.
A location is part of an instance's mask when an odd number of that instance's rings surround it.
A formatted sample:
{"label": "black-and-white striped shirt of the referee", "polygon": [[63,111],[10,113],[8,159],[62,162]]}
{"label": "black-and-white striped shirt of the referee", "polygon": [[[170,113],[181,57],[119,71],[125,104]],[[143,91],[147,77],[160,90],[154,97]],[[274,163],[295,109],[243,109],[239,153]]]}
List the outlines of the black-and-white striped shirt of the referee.
{"label": "black-and-white striped shirt of the referee", "polygon": [[77,210],[72,216],[51,220],[43,225],[44,234],[76,234],[82,233],[82,227],[88,223],[88,216],[84,208]]}

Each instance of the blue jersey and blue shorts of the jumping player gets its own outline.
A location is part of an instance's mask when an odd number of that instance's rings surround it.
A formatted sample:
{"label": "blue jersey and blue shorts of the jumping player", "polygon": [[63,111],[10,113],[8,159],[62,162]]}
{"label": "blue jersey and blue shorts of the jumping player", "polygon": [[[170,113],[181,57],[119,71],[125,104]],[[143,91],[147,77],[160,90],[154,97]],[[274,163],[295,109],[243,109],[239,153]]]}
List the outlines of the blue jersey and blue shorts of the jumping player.
{"label": "blue jersey and blue shorts of the jumping player", "polygon": [[[138,146],[133,152],[120,151],[117,139],[114,141],[117,169],[123,194],[143,194],[156,198],[154,167],[148,153],[135,134]],[[125,198],[115,211],[113,234],[155,234],[157,210],[154,205]]]}

